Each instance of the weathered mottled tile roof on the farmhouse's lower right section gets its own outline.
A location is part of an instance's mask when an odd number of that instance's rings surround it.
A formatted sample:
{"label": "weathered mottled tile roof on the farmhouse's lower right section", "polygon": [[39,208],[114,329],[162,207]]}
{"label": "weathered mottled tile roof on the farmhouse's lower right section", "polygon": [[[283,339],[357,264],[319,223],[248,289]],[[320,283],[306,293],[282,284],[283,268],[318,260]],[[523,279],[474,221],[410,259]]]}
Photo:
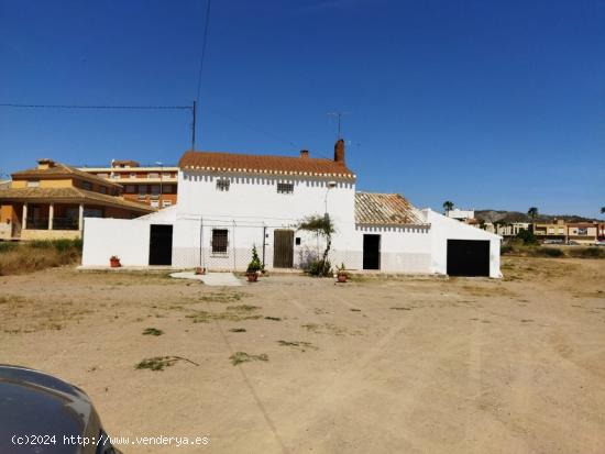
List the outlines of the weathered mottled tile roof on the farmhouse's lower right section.
{"label": "weathered mottled tile roof on the farmhouse's lower right section", "polygon": [[398,193],[355,192],[355,223],[424,225],[422,214]]}

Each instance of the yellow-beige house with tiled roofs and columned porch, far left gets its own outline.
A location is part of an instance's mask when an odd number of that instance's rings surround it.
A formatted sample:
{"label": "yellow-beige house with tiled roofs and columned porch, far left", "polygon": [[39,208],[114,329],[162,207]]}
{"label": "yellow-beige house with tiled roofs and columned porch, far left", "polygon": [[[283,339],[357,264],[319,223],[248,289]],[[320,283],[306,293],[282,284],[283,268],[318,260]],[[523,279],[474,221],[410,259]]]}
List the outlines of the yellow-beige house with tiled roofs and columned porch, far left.
{"label": "yellow-beige house with tiled roofs and columned porch, far left", "polygon": [[0,240],[53,240],[81,236],[85,218],[132,219],[153,212],[124,200],[122,187],[52,159],[12,174],[0,190]]}

